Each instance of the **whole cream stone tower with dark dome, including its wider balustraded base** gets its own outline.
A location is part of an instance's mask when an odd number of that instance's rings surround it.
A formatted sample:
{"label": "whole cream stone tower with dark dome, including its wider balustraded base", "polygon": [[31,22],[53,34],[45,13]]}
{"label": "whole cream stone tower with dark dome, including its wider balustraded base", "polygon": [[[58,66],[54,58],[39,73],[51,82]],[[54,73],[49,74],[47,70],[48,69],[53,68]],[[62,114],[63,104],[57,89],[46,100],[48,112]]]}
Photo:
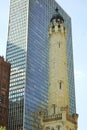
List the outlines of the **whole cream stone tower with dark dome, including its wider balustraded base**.
{"label": "whole cream stone tower with dark dome, including its wider balustraded base", "polygon": [[43,130],[77,130],[78,114],[70,113],[66,36],[64,19],[56,9],[49,26],[49,99],[48,114],[42,114]]}

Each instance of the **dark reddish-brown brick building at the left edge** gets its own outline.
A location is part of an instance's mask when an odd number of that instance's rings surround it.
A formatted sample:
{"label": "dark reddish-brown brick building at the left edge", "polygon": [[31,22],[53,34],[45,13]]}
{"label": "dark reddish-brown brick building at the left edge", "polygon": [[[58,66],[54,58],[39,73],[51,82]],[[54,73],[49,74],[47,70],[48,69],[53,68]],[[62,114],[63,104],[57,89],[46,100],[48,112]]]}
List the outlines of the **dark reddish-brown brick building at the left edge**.
{"label": "dark reddish-brown brick building at the left edge", "polygon": [[10,66],[10,63],[0,56],[0,129],[6,129],[8,123]]}

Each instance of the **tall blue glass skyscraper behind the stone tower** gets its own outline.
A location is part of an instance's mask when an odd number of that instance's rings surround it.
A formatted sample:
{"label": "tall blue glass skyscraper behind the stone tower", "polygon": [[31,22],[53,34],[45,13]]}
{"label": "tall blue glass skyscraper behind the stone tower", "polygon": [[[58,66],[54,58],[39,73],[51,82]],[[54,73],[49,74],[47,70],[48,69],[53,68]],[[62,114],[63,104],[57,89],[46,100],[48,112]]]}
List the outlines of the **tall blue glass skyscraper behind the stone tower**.
{"label": "tall blue glass skyscraper behind the stone tower", "polygon": [[71,18],[54,0],[10,0],[7,61],[11,63],[8,130],[39,130],[48,104],[48,25],[55,8],[67,28],[70,113],[76,113]]}

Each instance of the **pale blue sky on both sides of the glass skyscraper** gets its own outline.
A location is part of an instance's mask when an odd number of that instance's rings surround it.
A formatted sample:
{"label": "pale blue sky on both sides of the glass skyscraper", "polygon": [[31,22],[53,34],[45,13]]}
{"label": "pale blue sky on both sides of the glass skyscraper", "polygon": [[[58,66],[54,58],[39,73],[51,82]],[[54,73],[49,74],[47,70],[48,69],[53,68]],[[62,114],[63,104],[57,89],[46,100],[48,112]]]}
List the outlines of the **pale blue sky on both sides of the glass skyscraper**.
{"label": "pale blue sky on both sides of the glass skyscraper", "polygon": [[[56,0],[72,20],[78,130],[87,130],[87,0]],[[0,2],[0,55],[6,55],[9,0]]]}

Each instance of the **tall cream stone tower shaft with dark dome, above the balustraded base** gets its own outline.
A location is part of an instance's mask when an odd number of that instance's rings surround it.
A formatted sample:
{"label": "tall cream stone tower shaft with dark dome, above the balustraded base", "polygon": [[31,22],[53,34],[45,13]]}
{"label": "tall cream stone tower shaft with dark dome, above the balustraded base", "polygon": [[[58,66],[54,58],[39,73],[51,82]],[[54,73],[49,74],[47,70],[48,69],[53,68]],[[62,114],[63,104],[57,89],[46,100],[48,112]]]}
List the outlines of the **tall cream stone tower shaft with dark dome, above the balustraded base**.
{"label": "tall cream stone tower shaft with dark dome, above the balustraded base", "polygon": [[68,72],[66,56],[66,28],[56,9],[49,26],[49,114],[69,108]]}

